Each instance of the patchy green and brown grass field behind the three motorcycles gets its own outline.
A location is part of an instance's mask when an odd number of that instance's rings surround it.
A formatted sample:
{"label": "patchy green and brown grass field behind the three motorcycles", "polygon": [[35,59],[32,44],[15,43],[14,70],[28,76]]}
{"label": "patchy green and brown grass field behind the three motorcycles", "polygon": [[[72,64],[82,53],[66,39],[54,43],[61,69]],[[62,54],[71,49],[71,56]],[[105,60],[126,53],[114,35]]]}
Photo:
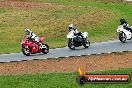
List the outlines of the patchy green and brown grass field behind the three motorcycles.
{"label": "patchy green and brown grass field behind the three motorcycles", "polygon": [[67,45],[68,25],[89,33],[91,42],[117,38],[121,17],[132,24],[132,6],[91,0],[30,0],[51,3],[49,8],[0,8],[0,53],[20,52],[24,29],[45,36],[50,48]]}

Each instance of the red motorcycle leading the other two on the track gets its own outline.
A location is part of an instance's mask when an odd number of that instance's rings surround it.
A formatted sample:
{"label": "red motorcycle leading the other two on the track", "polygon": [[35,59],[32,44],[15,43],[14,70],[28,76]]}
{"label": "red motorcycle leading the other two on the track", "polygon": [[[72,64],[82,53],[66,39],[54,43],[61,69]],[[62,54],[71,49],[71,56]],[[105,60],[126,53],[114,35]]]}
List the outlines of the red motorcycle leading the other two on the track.
{"label": "red motorcycle leading the other two on the track", "polygon": [[26,36],[21,44],[22,44],[22,53],[26,56],[30,56],[30,54],[35,53],[44,53],[47,54],[49,52],[49,46],[47,44],[44,44],[44,38],[39,38],[39,41],[41,43],[40,46],[38,46],[36,41],[31,41],[28,36]]}

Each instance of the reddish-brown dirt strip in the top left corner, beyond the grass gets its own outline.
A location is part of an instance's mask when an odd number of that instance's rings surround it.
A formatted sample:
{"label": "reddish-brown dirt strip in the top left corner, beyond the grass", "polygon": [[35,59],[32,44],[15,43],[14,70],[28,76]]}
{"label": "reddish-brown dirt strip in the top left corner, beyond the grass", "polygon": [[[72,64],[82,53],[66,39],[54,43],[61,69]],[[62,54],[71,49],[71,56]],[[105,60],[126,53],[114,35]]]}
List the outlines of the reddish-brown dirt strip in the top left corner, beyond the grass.
{"label": "reddish-brown dirt strip in the top left corner, beyond the grass", "polygon": [[42,8],[62,8],[63,5],[55,5],[51,3],[36,3],[36,2],[30,2],[25,0],[5,0],[0,1],[0,7],[17,7],[17,8],[36,8],[36,9],[42,9]]}

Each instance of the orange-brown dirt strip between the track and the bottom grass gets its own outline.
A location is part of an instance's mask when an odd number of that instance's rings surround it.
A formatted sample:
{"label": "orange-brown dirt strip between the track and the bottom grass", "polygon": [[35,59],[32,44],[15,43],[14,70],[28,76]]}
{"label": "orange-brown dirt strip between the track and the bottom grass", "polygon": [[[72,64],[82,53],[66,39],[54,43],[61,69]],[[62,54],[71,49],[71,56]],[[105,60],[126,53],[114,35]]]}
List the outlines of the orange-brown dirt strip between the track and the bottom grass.
{"label": "orange-brown dirt strip between the track and the bottom grass", "polygon": [[88,72],[132,68],[132,53],[1,63],[0,74],[75,72],[79,66],[85,67]]}

